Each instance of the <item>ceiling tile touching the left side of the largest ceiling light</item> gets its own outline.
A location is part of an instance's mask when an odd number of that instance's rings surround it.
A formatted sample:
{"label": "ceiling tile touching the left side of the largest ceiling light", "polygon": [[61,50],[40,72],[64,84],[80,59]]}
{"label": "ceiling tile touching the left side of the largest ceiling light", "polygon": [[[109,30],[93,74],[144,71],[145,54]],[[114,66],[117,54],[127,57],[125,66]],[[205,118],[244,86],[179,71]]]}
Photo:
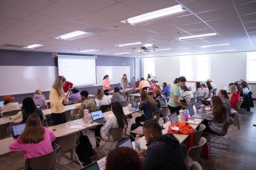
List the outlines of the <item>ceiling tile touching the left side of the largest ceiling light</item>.
{"label": "ceiling tile touching the left side of the largest ceiling light", "polygon": [[93,12],[93,14],[117,21],[117,20],[124,20],[130,17],[134,17],[143,13],[135,8],[131,8],[122,3],[116,3],[112,6],[108,6],[106,8],[95,11]]}

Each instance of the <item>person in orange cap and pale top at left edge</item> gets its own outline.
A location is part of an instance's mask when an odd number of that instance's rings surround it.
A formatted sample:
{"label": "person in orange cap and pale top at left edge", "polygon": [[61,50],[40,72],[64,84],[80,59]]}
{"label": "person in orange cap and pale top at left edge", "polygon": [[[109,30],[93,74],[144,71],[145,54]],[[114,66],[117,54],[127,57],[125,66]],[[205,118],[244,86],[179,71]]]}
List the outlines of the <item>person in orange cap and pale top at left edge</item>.
{"label": "person in orange cap and pale top at left edge", "polygon": [[12,99],[15,97],[5,96],[3,98],[3,106],[1,106],[1,115],[5,117],[5,112],[20,110],[20,106],[17,103],[12,103]]}

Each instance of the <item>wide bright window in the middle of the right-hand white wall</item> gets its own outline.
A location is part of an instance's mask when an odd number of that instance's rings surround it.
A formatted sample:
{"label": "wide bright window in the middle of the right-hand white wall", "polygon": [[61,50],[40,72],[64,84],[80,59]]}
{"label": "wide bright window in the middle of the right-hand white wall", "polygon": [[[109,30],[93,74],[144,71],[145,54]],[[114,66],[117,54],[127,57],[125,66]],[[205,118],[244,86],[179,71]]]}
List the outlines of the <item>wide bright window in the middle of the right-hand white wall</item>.
{"label": "wide bright window in the middle of the right-hand white wall", "polygon": [[187,81],[206,81],[210,79],[210,72],[209,55],[180,56],[180,76]]}

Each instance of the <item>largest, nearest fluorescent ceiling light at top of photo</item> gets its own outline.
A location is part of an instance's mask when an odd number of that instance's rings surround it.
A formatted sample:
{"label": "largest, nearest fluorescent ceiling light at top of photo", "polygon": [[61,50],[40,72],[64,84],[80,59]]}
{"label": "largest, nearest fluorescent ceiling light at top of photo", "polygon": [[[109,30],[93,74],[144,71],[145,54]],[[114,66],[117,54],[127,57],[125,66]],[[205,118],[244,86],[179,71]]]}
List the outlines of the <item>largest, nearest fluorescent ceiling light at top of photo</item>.
{"label": "largest, nearest fluorescent ceiling light at top of photo", "polygon": [[172,6],[169,8],[164,8],[157,11],[149,12],[146,14],[142,14],[137,17],[132,17],[121,22],[134,24],[134,23],[139,23],[141,21],[150,20],[157,17],[163,17],[165,15],[174,14],[181,11],[184,11],[184,8],[181,5],[177,5],[177,6]]}

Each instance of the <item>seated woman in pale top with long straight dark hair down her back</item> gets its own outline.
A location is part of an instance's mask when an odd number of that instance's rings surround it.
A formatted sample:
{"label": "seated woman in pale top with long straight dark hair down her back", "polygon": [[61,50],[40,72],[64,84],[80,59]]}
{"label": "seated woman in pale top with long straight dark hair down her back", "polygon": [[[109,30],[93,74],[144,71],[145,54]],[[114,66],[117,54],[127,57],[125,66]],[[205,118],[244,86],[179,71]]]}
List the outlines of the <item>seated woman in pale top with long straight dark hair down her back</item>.
{"label": "seated woman in pale top with long straight dark hair down her back", "polygon": [[[125,113],[122,109],[122,105],[119,101],[115,101],[111,103],[111,111],[114,113],[113,116],[105,119],[106,124],[98,125],[95,130],[95,136],[101,136],[102,139],[107,141],[114,141],[113,136],[110,135],[109,130],[111,128],[119,127],[119,129],[124,129],[128,126],[128,122],[125,116]],[[100,140],[96,139],[96,147],[94,150],[96,153],[100,153],[99,150]]]}

